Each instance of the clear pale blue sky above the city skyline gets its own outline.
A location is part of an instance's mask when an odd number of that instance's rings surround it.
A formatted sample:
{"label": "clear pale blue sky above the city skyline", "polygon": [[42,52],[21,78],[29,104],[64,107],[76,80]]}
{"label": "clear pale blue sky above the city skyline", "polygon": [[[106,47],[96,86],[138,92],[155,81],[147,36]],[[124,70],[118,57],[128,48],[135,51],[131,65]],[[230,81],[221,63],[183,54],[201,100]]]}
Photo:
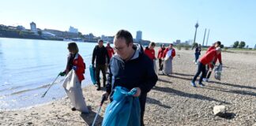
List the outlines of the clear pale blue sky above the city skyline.
{"label": "clear pale blue sky above the city skyline", "polygon": [[198,21],[198,43],[209,28],[209,44],[220,40],[230,46],[239,40],[254,47],[255,6],[254,0],[2,0],[0,24],[29,28],[34,21],[41,29],[68,31],[73,26],[96,36],[123,28],[134,38],[141,30],[142,39],[172,43],[194,39]]}

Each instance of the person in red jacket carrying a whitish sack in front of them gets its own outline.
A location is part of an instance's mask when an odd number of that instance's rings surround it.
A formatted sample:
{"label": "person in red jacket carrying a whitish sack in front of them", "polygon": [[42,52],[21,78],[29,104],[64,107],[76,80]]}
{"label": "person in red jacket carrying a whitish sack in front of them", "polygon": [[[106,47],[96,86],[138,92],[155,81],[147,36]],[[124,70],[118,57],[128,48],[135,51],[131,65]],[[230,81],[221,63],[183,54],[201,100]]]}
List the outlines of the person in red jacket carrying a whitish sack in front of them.
{"label": "person in red jacket carrying a whitish sack in front of them", "polygon": [[175,49],[173,48],[173,44],[171,43],[167,49],[164,50],[164,67],[163,73],[165,75],[172,74],[172,59],[175,57]]}

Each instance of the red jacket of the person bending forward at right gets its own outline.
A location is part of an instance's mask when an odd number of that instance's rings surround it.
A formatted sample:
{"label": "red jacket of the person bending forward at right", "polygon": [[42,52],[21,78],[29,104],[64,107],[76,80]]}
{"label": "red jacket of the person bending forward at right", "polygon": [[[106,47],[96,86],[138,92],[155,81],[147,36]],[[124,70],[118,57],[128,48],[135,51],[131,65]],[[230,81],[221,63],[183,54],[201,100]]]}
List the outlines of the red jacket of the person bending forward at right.
{"label": "red jacket of the person bending forward at right", "polygon": [[206,53],[205,55],[203,55],[199,61],[203,64],[203,65],[212,65],[212,62],[215,60],[215,58],[217,57],[216,54],[216,50],[210,50],[208,53]]}

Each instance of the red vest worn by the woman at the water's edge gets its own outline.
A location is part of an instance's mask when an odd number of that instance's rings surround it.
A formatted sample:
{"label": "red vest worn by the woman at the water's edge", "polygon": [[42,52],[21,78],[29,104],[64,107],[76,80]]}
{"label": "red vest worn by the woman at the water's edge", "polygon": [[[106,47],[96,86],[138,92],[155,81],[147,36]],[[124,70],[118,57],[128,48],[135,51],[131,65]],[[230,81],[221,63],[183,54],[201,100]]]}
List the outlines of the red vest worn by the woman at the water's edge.
{"label": "red vest worn by the woman at the water's edge", "polygon": [[[80,54],[76,54],[76,56],[73,58],[72,65],[77,67],[76,74],[78,77],[78,80],[81,82],[82,80],[85,80],[85,63],[83,57],[81,57]],[[70,65],[66,66],[66,74],[70,72]]]}

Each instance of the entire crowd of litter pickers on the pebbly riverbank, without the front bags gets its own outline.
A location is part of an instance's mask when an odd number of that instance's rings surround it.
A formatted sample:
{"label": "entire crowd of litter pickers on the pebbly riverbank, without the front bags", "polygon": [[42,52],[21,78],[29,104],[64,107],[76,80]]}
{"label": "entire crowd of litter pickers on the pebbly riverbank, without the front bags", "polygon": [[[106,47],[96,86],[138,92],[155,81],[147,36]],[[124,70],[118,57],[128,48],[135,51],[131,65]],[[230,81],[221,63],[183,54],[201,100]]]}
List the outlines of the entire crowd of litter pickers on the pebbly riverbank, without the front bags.
{"label": "entire crowd of litter pickers on the pebbly riverbank, without the front bags", "polygon": [[[204,86],[202,81],[208,81],[213,70],[216,60],[220,64],[220,42],[217,41],[210,46],[206,53],[201,55],[201,45],[195,47],[194,63],[198,65],[191,85],[196,87],[195,81],[201,73],[198,81],[200,86]],[[155,47],[156,43],[151,42],[145,49],[140,44],[135,44],[133,36],[129,31],[120,30],[116,33],[112,48],[110,43],[104,46],[104,41],[99,40],[92,52],[92,65],[96,68],[96,85],[97,91],[101,90],[100,72],[103,76],[103,87],[106,92],[103,94],[104,98],[109,98],[113,101],[115,94],[115,87],[124,87],[129,91],[136,89],[134,98],[139,98],[141,108],[141,125],[145,112],[145,102],[147,94],[156,85],[158,74],[171,75],[172,74],[172,60],[175,57],[175,48],[173,44],[168,47],[162,44],[158,50],[156,57]],[[85,80],[85,63],[80,54],[78,54],[78,47],[76,43],[69,43],[66,69],[60,73],[61,76],[67,75],[73,69],[78,77],[79,82]],[[158,59],[158,69],[156,69],[156,60]],[[75,110],[75,108],[72,108]]]}

